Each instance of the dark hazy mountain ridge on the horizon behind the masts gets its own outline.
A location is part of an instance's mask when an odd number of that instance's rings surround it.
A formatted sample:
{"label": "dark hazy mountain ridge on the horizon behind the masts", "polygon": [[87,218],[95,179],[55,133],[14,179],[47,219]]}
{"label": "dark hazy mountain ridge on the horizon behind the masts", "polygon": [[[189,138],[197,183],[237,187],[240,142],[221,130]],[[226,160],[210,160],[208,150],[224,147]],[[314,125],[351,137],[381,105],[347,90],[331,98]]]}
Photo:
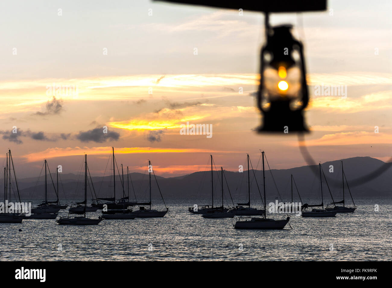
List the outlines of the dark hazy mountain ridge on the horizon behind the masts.
{"label": "dark hazy mountain ridge on the horizon behind the masts", "polygon": [[[329,172],[329,166],[334,166],[334,172]],[[381,175],[374,179],[371,179],[365,184],[356,185],[353,183],[353,179],[361,178],[372,171],[386,165],[385,162],[378,159],[370,157],[354,157],[343,159],[344,171],[347,177],[348,185],[355,197],[375,197],[375,196],[391,196],[391,175],[392,169],[389,164],[387,171],[383,172]],[[329,188],[331,189],[332,195],[335,200],[339,200],[342,195],[342,174],[341,174],[341,162],[328,161],[322,165],[323,171],[327,178]],[[271,167],[273,168],[273,167]],[[274,177],[275,182],[271,177],[271,172]],[[215,203],[221,203],[221,182],[220,182],[220,172],[214,171],[214,201]],[[267,191],[267,201],[272,201],[275,197],[278,197],[278,192],[276,192],[276,187],[278,188],[280,196],[284,201],[291,199],[290,192],[290,175],[294,176],[296,186],[299,190],[301,198],[306,199],[319,199],[319,169],[318,165],[315,166],[303,166],[295,167],[290,169],[271,169],[271,171],[265,171],[266,178],[266,191]],[[56,185],[56,174],[51,174],[54,184]],[[146,200],[149,195],[148,189],[148,174],[142,173],[131,173],[132,184],[135,190],[135,194],[138,200]],[[227,179],[227,184],[231,192],[231,196],[234,203],[237,202],[247,202],[247,170],[241,172],[231,172],[225,171],[225,176]],[[93,176],[93,186],[98,197],[113,197],[113,181],[112,176],[105,176],[104,178]],[[83,197],[83,181],[84,175],[76,174],[61,174],[60,187],[60,199],[66,197],[68,202],[73,201],[73,199],[78,199]],[[180,177],[163,178],[156,176],[158,180],[159,187],[162,191],[163,197],[169,198],[193,198],[195,203],[198,204],[208,204],[211,202],[211,172],[194,172],[192,174],[187,174]],[[79,181],[78,181],[79,179]],[[144,181],[142,181],[144,179]],[[251,200],[252,202],[260,205],[260,192],[262,193],[262,171],[260,170],[250,170],[250,185],[251,185]],[[127,177],[124,176],[125,181],[125,194],[127,194]],[[154,177],[152,177],[152,193],[153,197],[159,197],[159,192],[155,183]],[[257,182],[257,184],[256,184]],[[324,179],[323,179],[324,182]],[[225,201],[229,204],[230,197],[224,180],[223,190],[225,191]],[[37,178],[20,178],[18,179],[18,185],[20,189],[20,194],[22,199],[27,200],[31,198],[44,197],[44,178],[41,176],[40,181],[37,183]],[[88,197],[91,198],[92,187],[88,188]],[[134,199],[134,193],[132,190],[132,185],[129,183],[130,188],[130,198]],[[345,186],[345,191],[347,186]],[[326,202],[329,203],[330,195],[328,188],[323,183],[323,192],[326,198]],[[50,177],[48,176],[48,197],[50,199],[55,199],[53,185],[51,184]],[[347,194],[348,195],[348,194]],[[120,178],[116,176],[116,196],[122,197],[123,190]],[[349,196],[348,196],[349,197]],[[294,186],[294,199],[298,199],[298,194]],[[205,202],[205,203],[204,203]]]}

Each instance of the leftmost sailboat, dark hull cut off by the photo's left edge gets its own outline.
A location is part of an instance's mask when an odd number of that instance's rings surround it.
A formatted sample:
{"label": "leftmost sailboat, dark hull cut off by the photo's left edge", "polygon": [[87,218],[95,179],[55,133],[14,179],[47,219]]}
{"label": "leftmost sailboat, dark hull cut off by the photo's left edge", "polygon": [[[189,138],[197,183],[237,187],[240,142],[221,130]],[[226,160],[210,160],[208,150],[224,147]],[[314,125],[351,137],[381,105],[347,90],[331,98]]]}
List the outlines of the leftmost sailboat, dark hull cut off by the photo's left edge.
{"label": "leftmost sailboat, dark hull cut off by the photo's left edge", "polygon": [[[16,182],[16,175],[15,175],[15,168],[14,168],[14,162],[11,157],[11,150],[9,151],[9,159],[8,159],[8,154],[7,154],[7,165],[4,167],[4,213],[0,213],[0,223],[22,223],[24,214],[22,213],[8,213],[8,207],[5,207],[7,203],[7,190],[9,189],[9,201],[11,202],[11,163],[12,163],[12,168],[14,170],[14,178],[15,178],[15,183],[17,187],[17,192],[18,192],[18,198],[19,202],[20,201],[20,195],[19,195],[19,188],[18,188],[18,183]],[[8,166],[8,160],[9,160],[9,166]],[[9,172],[9,173],[8,173]],[[9,181],[9,182],[8,182]],[[8,186],[9,183],[9,186]]]}

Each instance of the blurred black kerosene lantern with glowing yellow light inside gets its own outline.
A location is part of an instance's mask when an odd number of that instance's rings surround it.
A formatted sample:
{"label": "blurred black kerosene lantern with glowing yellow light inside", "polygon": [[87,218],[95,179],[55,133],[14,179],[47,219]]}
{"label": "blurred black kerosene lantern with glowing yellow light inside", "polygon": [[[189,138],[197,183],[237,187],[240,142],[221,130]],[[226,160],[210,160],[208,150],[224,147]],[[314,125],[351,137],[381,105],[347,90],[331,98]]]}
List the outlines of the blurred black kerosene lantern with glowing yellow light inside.
{"label": "blurred black kerosene lantern with glowing yellow light inside", "polygon": [[291,25],[266,27],[261,49],[258,107],[263,114],[259,132],[307,131],[303,109],[309,102],[303,45]]}

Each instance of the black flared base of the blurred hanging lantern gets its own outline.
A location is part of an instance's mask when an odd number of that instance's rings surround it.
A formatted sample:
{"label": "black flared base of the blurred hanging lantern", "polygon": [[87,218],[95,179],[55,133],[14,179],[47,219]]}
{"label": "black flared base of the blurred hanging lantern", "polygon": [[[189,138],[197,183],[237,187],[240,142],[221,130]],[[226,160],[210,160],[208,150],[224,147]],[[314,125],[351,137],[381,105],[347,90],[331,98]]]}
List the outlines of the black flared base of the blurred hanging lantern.
{"label": "black flared base of the blurred hanging lantern", "polygon": [[[264,132],[309,132],[302,110],[290,110],[288,103],[271,103],[270,110],[263,111],[263,124],[257,129]],[[282,109],[283,108],[283,109]]]}

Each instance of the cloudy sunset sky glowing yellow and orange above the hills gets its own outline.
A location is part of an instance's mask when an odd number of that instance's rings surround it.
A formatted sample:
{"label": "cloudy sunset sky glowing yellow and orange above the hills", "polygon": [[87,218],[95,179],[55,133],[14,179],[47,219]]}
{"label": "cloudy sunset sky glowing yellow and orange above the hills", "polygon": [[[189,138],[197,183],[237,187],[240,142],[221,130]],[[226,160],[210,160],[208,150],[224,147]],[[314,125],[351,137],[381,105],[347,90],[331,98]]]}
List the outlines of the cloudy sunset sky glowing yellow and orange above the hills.
{"label": "cloudy sunset sky glowing yellow and orange above the hills", "polygon": [[[325,12],[272,14],[273,25],[293,24],[305,45],[312,130],[305,145],[315,161],[392,157],[390,11],[390,1],[328,1]],[[232,171],[246,153],[257,163],[259,149],[271,168],[307,165],[295,133],[254,132],[263,20],[151,0],[3,4],[3,165],[9,148],[19,177],[38,176],[45,158],[53,172],[62,165],[77,173],[87,153],[99,176],[111,146],[132,172],[144,172],[150,159],[165,177],[205,170],[210,153]],[[314,96],[321,84],[347,85],[347,98]],[[52,85],[78,93],[56,95]],[[180,135],[187,121],[212,124],[212,138]]]}

